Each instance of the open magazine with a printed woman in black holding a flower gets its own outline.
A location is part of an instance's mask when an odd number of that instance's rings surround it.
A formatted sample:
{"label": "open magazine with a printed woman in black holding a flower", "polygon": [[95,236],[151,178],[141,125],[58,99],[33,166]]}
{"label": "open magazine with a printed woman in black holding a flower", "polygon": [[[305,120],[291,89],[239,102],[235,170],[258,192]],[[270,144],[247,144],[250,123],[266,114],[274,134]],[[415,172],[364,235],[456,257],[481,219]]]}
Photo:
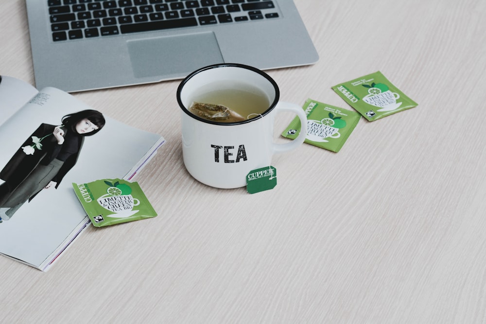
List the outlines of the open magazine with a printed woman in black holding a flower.
{"label": "open magazine with a printed woman in black holding a flower", "polygon": [[[90,123],[97,119],[93,111],[101,113],[104,124]],[[164,142],[162,136],[110,119],[64,91],[38,91],[2,76],[0,253],[46,271],[90,223],[72,183],[132,180]]]}

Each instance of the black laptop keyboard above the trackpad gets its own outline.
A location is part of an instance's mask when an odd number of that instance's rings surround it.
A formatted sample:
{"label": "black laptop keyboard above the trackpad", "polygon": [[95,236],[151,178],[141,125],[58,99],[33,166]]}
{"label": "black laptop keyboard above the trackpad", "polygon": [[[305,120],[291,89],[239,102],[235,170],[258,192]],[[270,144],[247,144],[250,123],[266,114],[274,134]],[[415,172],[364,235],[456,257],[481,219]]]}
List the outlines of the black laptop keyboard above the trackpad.
{"label": "black laptop keyboard above the trackpad", "polygon": [[47,0],[53,41],[278,17],[269,0]]}

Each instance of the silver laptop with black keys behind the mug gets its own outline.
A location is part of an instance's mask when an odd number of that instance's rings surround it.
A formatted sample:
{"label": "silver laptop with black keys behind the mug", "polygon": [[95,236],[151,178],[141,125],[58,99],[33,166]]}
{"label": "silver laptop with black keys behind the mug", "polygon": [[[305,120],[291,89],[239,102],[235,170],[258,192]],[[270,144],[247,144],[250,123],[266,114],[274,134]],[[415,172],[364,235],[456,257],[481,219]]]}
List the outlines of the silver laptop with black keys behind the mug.
{"label": "silver laptop with black keys behind the mug", "polygon": [[37,88],[181,79],[216,63],[315,63],[293,0],[26,0]]}

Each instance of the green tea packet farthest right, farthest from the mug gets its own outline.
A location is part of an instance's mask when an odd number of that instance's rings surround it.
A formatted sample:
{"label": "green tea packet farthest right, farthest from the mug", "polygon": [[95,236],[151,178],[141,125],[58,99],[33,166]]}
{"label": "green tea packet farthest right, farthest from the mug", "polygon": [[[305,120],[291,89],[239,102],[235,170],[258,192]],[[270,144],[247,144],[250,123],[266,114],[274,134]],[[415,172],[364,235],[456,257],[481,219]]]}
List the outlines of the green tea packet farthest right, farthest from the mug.
{"label": "green tea packet farthest right, farthest from the mug", "polygon": [[369,121],[417,106],[380,72],[332,87],[351,107]]}

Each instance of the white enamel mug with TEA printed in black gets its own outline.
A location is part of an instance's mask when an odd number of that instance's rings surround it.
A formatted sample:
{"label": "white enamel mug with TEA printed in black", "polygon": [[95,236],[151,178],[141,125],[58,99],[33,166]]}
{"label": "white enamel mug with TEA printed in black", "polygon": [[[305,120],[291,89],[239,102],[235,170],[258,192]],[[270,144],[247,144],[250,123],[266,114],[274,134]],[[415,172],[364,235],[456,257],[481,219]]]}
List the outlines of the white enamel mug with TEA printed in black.
{"label": "white enamel mug with TEA printed in black", "polygon": [[[255,118],[239,122],[203,119],[188,109],[202,87],[222,84],[247,84],[259,88],[269,107]],[[246,175],[270,166],[274,153],[300,146],[307,133],[307,116],[294,103],[279,102],[276,82],[261,70],[241,64],[216,64],[198,69],[187,76],[177,89],[182,109],[182,155],[187,171],[198,181],[215,188],[240,188]],[[274,143],[274,117],[279,111],[295,113],[302,125],[300,134],[288,143]]]}

